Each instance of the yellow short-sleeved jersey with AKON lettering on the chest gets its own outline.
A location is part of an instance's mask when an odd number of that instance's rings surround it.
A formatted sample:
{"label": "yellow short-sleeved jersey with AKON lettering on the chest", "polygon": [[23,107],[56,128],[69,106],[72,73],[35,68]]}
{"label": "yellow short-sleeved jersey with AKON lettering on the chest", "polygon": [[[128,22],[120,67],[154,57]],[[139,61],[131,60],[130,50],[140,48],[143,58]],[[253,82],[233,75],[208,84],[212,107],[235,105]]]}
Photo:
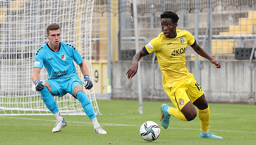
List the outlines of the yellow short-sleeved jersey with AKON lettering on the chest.
{"label": "yellow short-sleeved jersey with AKON lettering on the chest", "polygon": [[176,32],[177,36],[172,39],[165,37],[162,32],[143,47],[146,54],[155,52],[163,73],[163,86],[167,88],[188,78],[185,52],[187,45],[192,47],[196,45],[195,38],[190,32],[178,29]]}

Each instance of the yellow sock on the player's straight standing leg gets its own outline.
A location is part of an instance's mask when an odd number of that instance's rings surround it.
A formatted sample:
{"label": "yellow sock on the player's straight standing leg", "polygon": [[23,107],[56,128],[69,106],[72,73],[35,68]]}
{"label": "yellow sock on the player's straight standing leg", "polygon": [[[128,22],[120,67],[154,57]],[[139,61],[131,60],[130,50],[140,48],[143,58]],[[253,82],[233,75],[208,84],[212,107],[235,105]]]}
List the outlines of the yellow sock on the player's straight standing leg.
{"label": "yellow sock on the player's straight standing leg", "polygon": [[209,130],[209,123],[210,123],[210,109],[209,106],[204,110],[198,110],[198,117],[200,119],[200,125],[202,131]]}

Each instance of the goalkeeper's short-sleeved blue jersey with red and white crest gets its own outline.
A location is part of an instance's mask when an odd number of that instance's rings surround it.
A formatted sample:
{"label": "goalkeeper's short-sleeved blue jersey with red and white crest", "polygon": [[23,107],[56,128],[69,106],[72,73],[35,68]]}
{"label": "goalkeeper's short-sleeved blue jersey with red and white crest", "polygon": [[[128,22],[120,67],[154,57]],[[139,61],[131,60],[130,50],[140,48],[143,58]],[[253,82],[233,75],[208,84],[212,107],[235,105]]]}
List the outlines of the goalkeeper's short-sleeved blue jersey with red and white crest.
{"label": "goalkeeper's short-sleeved blue jersey with red and white crest", "polygon": [[73,45],[60,41],[59,51],[54,52],[46,43],[36,51],[34,68],[43,68],[44,65],[48,80],[78,77],[73,60],[76,64],[83,60]]}

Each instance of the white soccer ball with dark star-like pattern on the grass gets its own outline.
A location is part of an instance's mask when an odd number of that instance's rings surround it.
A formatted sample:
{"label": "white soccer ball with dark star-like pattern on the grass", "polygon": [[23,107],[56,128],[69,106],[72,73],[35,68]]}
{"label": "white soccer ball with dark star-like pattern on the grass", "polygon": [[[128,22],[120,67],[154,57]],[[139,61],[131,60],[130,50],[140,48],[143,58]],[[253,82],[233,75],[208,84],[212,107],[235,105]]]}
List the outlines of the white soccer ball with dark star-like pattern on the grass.
{"label": "white soccer ball with dark star-like pattern on the grass", "polygon": [[160,135],[160,127],[154,121],[147,121],[141,125],[140,135],[146,141],[154,141]]}

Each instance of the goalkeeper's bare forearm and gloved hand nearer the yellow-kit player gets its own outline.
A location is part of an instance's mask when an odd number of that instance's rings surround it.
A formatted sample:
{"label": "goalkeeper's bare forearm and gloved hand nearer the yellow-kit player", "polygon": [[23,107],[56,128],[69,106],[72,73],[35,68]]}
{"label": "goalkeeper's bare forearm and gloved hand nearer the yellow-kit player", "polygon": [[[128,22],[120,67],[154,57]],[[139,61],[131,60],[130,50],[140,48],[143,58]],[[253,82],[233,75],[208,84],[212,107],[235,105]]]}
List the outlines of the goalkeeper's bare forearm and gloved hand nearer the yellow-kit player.
{"label": "goalkeeper's bare forearm and gloved hand nearer the yellow-kit player", "polygon": [[84,61],[82,61],[79,64],[79,67],[80,67],[80,70],[81,70],[82,74],[84,75],[84,79],[83,79],[83,82],[82,82],[83,85],[84,85],[84,88],[87,89],[87,90],[90,90],[93,87],[93,84],[92,84],[92,81],[89,78],[88,67],[87,67],[87,65]]}

